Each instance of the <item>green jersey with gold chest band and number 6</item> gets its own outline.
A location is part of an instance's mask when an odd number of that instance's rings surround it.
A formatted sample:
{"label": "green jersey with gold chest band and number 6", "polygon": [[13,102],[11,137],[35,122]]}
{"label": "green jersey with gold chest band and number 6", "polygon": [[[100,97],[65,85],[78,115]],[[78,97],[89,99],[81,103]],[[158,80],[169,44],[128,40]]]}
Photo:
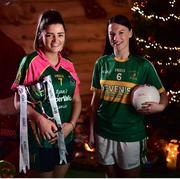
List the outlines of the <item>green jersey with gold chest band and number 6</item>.
{"label": "green jersey with gold chest band and number 6", "polygon": [[106,55],[96,61],[91,90],[101,93],[97,134],[122,142],[139,141],[146,136],[144,115],[130,103],[132,89],[143,84],[155,86],[160,93],[165,91],[154,66],[145,58],[131,55],[120,62],[114,55]]}

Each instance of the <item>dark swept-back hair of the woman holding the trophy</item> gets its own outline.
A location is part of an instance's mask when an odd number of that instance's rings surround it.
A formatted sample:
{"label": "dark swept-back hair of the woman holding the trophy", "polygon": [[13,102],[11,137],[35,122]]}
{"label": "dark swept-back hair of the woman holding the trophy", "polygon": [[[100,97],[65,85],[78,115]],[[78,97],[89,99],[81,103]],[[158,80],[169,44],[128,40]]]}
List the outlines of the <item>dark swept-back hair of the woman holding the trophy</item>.
{"label": "dark swept-back hair of the woman holding the trophy", "polygon": [[34,40],[34,48],[36,50],[42,47],[42,39],[41,39],[42,31],[45,30],[47,26],[51,24],[62,24],[65,29],[65,24],[61,14],[53,9],[43,12],[43,14],[39,18],[35,40]]}

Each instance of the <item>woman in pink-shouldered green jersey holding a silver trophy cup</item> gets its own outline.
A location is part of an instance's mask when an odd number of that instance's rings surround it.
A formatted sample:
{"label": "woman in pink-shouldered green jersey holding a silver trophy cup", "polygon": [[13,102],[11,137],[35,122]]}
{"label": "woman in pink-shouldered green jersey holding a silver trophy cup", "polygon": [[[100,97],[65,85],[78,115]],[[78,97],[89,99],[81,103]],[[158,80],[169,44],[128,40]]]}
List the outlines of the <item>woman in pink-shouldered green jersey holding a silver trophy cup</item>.
{"label": "woman in pink-shouldered green jersey holding a silver trophy cup", "polygon": [[[53,102],[57,103],[57,107],[51,107],[50,97],[41,103],[45,113],[50,117],[54,116],[54,119],[59,110],[62,129],[58,128],[57,122],[46,117],[38,105],[28,105],[27,107],[31,168],[39,171],[40,175],[37,177],[42,178],[65,176],[73,157],[73,129],[81,111],[79,78],[73,63],[62,56],[65,33],[64,21],[58,11],[43,12],[37,26],[35,51],[23,58],[16,80],[12,85],[12,89],[16,90],[19,85],[31,86],[43,81],[49,75],[52,79],[51,91],[53,88],[55,93]],[[20,105],[16,92],[15,106],[19,109]],[[65,153],[66,161],[62,161],[59,153],[58,130],[63,130],[67,151]]]}

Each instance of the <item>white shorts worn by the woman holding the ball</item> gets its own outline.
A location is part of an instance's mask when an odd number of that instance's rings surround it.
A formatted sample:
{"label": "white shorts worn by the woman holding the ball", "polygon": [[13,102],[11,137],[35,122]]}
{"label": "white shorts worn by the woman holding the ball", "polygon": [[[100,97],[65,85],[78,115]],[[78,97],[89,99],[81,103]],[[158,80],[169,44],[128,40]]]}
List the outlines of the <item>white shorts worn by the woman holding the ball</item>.
{"label": "white shorts worn by the woman holding the ball", "polygon": [[121,169],[133,169],[141,164],[141,144],[117,142],[96,135],[97,161],[102,165],[117,164]]}

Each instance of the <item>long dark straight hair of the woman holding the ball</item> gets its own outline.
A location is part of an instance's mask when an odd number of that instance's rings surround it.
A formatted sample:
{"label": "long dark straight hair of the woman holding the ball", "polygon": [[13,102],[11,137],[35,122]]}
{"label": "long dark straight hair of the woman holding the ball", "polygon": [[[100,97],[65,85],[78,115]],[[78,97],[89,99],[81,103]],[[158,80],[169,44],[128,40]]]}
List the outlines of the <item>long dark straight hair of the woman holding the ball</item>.
{"label": "long dark straight hair of the woman holding the ball", "polygon": [[[107,24],[106,44],[105,44],[105,49],[104,49],[103,55],[111,55],[113,53],[113,47],[111,46],[111,44],[109,42],[109,36],[108,36],[108,26],[109,26],[109,24],[112,24],[112,23],[117,23],[117,24],[126,26],[129,30],[132,29],[132,25],[126,16],[119,14],[119,15],[111,17]],[[130,54],[133,54],[133,55],[139,54],[137,41],[136,41],[134,32],[133,32],[132,37],[129,39],[129,50],[130,50]]]}

